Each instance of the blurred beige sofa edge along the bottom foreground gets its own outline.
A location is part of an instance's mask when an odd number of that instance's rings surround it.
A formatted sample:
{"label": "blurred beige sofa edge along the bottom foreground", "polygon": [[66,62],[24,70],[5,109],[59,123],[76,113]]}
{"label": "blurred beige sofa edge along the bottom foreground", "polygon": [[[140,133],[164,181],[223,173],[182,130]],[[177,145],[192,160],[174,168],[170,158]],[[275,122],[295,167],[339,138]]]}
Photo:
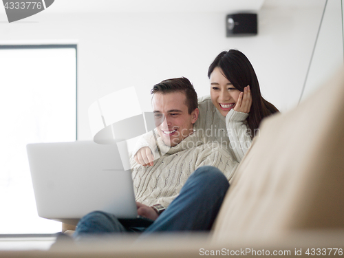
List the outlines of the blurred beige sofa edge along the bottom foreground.
{"label": "blurred beige sofa edge along the bottom foreground", "polygon": [[[130,234],[128,234],[130,235]],[[133,235],[131,235],[133,236]],[[233,235],[230,239],[212,241],[209,235],[191,234],[159,234],[155,237],[146,237],[137,241],[137,237],[111,237],[90,238],[89,241],[75,244],[72,241],[60,242],[59,246],[47,251],[0,251],[0,257],[200,257],[214,256],[212,253],[224,256],[245,255],[257,257],[264,250],[264,255],[273,255],[277,252],[290,257],[310,257],[306,251],[311,248],[326,248],[327,257],[343,257],[344,230],[303,230],[294,231],[279,237],[261,239],[260,234],[250,239],[237,238]],[[329,249],[327,249],[329,248]],[[334,250],[329,254],[330,248],[342,248],[342,255],[334,255]],[[301,252],[300,252],[301,251]],[[323,250],[321,250],[323,252]],[[232,252],[232,255],[231,255]],[[256,252],[256,254],[254,254]],[[298,252],[297,254],[295,252]],[[220,254],[221,253],[221,254]],[[229,255],[228,255],[229,253]],[[299,255],[301,254],[301,255]],[[324,257],[324,256],[323,256]]]}

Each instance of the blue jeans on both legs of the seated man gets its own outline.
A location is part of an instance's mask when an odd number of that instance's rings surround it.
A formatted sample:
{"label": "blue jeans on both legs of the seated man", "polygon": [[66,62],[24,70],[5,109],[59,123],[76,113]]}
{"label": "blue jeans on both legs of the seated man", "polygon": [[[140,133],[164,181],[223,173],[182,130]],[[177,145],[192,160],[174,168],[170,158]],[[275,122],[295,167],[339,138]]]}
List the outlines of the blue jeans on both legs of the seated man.
{"label": "blue jeans on both legs of the seated man", "polygon": [[[136,230],[142,231],[142,235],[211,230],[228,187],[228,180],[219,169],[202,166],[191,174],[178,197],[151,226]],[[114,215],[94,211],[80,219],[74,237],[130,231],[133,229],[125,228]]]}

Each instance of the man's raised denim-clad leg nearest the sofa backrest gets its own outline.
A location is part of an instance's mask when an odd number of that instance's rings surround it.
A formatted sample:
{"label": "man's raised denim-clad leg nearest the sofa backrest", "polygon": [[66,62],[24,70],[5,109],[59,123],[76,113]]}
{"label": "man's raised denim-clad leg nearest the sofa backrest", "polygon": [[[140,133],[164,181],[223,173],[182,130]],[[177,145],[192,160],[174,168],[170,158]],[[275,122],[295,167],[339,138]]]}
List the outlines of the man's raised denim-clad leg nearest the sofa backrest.
{"label": "man's raised denim-clad leg nearest the sofa backrest", "polygon": [[197,169],[171,202],[143,235],[171,231],[208,231],[219,212],[229,183],[214,166]]}

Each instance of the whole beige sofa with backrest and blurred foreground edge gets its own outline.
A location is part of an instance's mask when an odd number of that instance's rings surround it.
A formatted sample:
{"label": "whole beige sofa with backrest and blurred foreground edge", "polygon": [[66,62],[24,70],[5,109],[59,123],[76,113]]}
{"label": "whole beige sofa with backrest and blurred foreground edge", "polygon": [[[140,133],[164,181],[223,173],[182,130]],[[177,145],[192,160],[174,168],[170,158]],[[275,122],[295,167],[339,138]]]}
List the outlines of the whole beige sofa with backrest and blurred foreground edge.
{"label": "whole beige sofa with backrest and blurred foreground edge", "polygon": [[343,249],[341,71],[294,109],[262,122],[211,234],[61,241],[49,251],[0,252],[0,257],[344,257]]}

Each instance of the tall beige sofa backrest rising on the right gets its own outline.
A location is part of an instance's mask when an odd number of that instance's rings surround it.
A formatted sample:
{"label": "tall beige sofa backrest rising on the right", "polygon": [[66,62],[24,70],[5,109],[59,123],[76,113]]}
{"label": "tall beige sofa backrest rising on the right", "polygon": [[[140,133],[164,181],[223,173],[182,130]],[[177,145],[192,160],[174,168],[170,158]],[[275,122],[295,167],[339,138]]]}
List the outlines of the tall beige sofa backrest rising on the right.
{"label": "tall beige sofa backrest rising on the right", "polygon": [[237,168],[213,239],[344,228],[343,71],[294,109],[266,118]]}

